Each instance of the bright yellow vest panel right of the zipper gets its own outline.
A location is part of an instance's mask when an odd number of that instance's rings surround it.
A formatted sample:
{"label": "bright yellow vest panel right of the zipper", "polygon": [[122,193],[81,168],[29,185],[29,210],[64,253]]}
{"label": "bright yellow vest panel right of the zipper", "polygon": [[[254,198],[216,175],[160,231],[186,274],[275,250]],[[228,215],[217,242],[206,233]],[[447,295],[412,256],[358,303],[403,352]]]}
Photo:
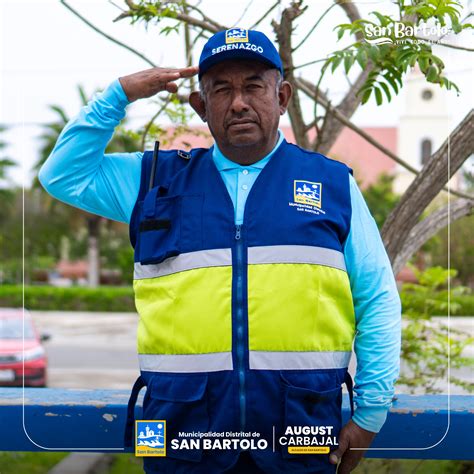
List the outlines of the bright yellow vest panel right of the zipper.
{"label": "bright yellow vest panel right of the zipper", "polygon": [[248,266],[249,348],[350,351],[354,307],[345,271],[306,263]]}

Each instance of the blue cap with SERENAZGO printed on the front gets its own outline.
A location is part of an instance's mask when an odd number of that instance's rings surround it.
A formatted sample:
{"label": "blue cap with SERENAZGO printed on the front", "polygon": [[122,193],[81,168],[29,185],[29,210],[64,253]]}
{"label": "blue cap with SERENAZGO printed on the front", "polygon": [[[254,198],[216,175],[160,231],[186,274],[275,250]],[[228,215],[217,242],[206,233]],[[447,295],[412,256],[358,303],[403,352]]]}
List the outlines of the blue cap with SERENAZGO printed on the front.
{"label": "blue cap with SERENAZGO printed on the front", "polygon": [[283,76],[283,65],[278,51],[260,31],[231,28],[211,36],[199,58],[199,79],[212,66],[227,59],[260,61],[278,69]]}

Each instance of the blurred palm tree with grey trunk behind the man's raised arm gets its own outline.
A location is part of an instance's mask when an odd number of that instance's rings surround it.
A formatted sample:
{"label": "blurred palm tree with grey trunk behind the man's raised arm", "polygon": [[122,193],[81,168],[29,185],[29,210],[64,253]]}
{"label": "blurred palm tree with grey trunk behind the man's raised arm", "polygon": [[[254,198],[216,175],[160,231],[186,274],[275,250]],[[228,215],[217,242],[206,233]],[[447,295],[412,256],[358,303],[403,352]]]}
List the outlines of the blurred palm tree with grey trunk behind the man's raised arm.
{"label": "blurred palm tree with grey trunk behind the man's raised arm", "polygon": [[[88,102],[87,95],[82,86],[78,86],[78,93],[82,105],[86,105]],[[38,173],[39,169],[46,161],[48,156],[51,154],[59,134],[69,122],[69,117],[63,107],[60,105],[51,105],[50,109],[55,112],[57,119],[54,122],[45,124],[44,132],[41,135],[42,146],[40,148],[40,158],[37,164],[34,166],[34,170]],[[140,142],[138,135],[127,132],[122,126],[119,127],[112,140],[109,142],[106,153],[113,152],[132,152],[140,148]],[[33,183],[33,187],[41,187],[38,181],[37,175]],[[53,200],[48,197],[45,200],[46,206],[52,209],[54,206],[62,206],[58,201]],[[99,284],[99,275],[100,275],[100,255],[99,255],[99,238],[101,232],[102,223],[106,220],[95,214],[90,214],[88,212],[71,209],[70,219],[71,223],[77,223],[78,220],[85,220],[87,232],[88,232],[88,245],[87,245],[87,255],[89,261],[89,270],[88,270],[88,283],[89,286],[97,286]],[[78,219],[79,218],[79,219]]]}

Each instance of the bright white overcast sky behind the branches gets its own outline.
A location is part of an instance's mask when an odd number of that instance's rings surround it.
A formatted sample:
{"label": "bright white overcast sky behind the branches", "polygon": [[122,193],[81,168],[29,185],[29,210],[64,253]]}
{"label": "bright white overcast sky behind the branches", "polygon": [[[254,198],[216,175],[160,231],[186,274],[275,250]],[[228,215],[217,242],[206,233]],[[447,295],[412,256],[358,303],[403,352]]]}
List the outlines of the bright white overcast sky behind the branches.
{"label": "bright white overcast sky behind the branches", "polygon": [[[182,30],[180,34],[171,33],[165,37],[158,34],[156,25],[149,25],[147,30],[144,24],[131,25],[128,20],[114,23],[120,8],[125,6],[123,0],[68,0],[68,3],[101,30],[139,50],[157,65],[184,66]],[[222,24],[249,27],[272,3],[267,0],[202,0],[200,8]],[[305,36],[331,2],[309,0],[306,4],[309,9],[297,23],[294,44]],[[464,14],[469,5],[465,3]],[[361,1],[358,7],[362,13],[375,9],[394,11],[388,0]],[[276,9],[273,17],[279,18],[280,13],[281,10]],[[333,8],[297,51],[296,64],[324,58],[344,47],[347,43],[337,43],[333,31],[335,25],[344,22],[347,18],[342,10]],[[261,29],[274,38],[269,21]],[[9,179],[28,186],[33,177],[31,168],[39,158],[42,125],[56,118],[49,108],[51,104],[61,105],[72,117],[80,107],[78,84],[92,94],[120,76],[149,66],[86,26],[58,0],[0,0],[0,30],[0,124],[8,127],[2,140],[8,143],[6,155],[19,165],[10,172]],[[447,36],[445,41],[473,47],[471,32],[464,32],[459,37]],[[202,44],[198,43],[198,52]],[[448,95],[451,128],[454,128],[473,105],[472,56],[439,46],[435,47],[435,52],[443,58],[447,76],[462,90],[459,97],[454,92]],[[197,53],[194,59],[197,63]],[[300,73],[316,82],[319,65],[302,68]],[[341,73],[335,74],[328,77],[323,86],[333,103],[337,103],[348,88],[348,79]],[[307,113],[311,112],[309,102],[303,105]],[[402,92],[390,104],[381,107],[371,101],[357,111],[353,120],[360,126],[396,126],[406,106]],[[138,128],[145,123],[155,107],[145,101],[129,106],[130,126]],[[194,120],[198,123],[197,118]],[[288,118],[284,117],[282,121],[286,124]]]}

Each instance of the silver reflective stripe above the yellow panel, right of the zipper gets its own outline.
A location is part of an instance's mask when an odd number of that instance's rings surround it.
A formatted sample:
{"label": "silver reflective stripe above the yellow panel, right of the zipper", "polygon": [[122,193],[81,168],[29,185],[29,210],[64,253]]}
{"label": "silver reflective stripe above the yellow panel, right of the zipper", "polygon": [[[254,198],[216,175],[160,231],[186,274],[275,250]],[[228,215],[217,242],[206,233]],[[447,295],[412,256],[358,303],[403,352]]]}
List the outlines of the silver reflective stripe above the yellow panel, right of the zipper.
{"label": "silver reflective stripe above the yellow panel, right of the zipper", "polygon": [[249,247],[248,263],[312,263],[346,271],[342,252],[310,245]]}

